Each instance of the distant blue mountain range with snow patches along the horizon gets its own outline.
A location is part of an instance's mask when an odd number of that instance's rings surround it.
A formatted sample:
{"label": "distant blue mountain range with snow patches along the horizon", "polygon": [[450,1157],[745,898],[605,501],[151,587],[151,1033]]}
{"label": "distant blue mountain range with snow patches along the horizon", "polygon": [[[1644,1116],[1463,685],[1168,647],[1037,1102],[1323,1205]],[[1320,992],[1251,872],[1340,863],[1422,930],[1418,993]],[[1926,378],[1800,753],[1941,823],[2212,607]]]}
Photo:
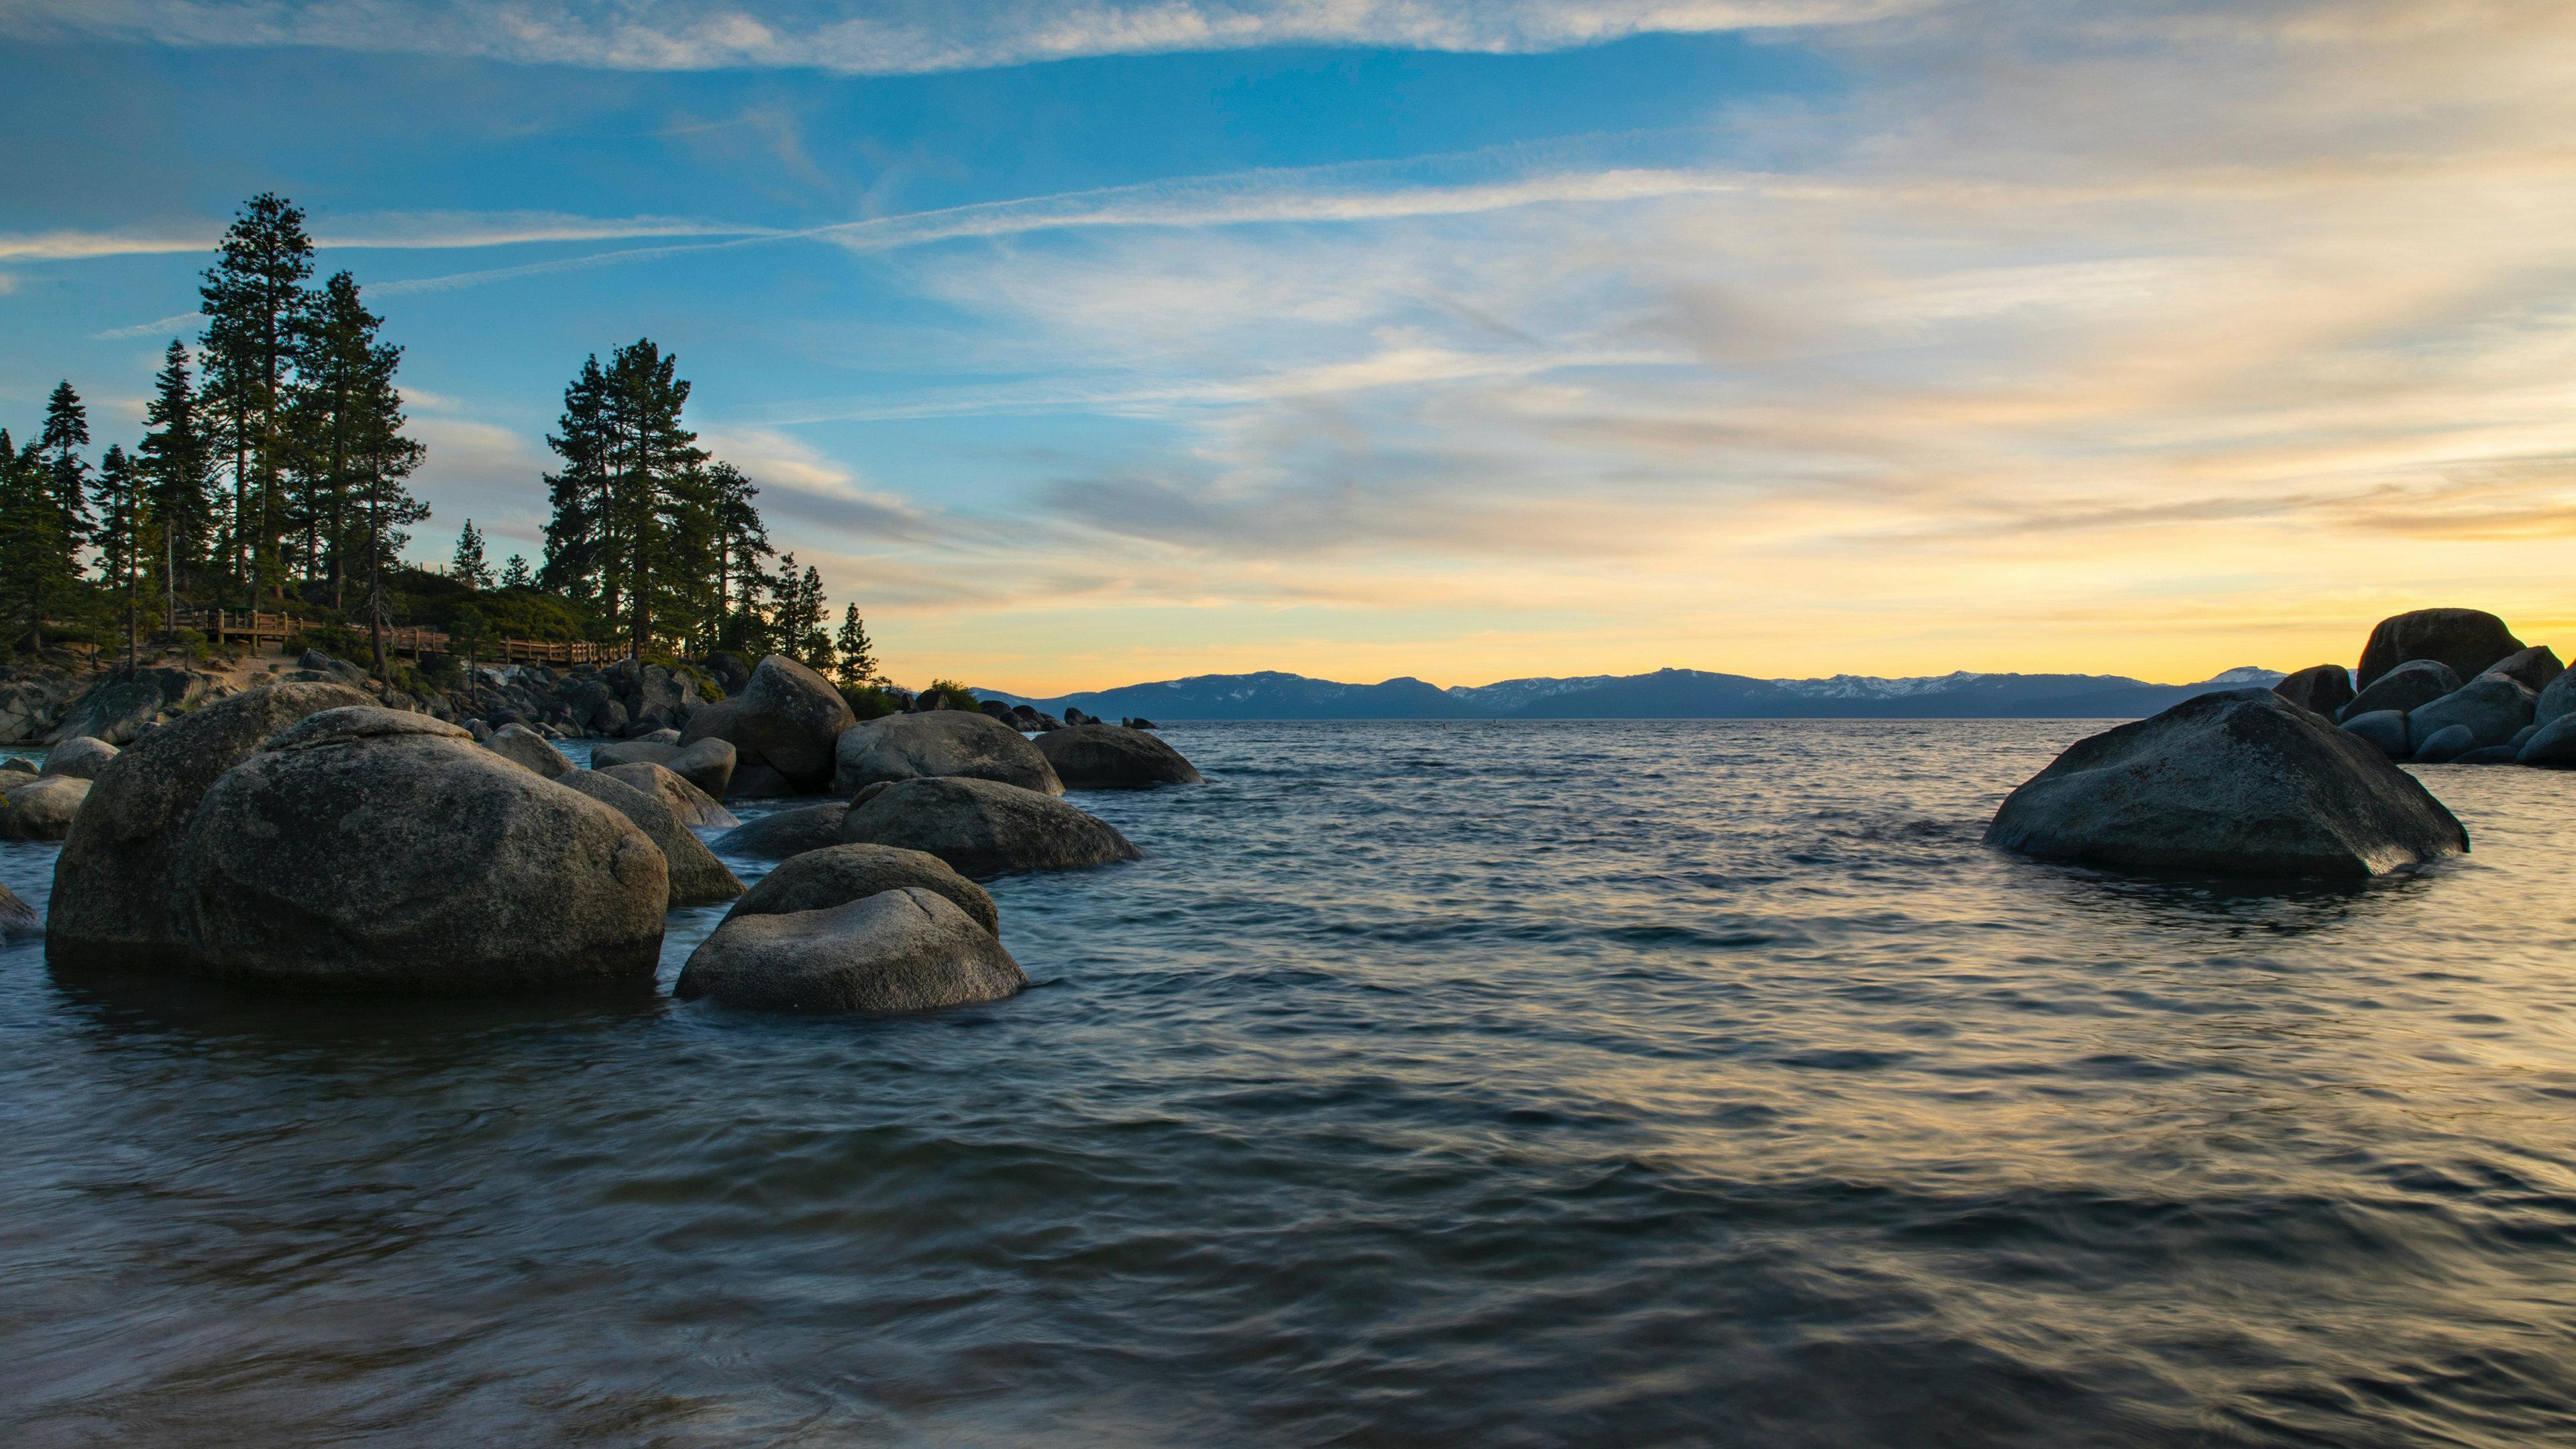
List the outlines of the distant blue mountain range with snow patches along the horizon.
{"label": "distant blue mountain range with snow patches along the horizon", "polygon": [[1293,673],[1203,673],[1036,699],[999,688],[979,699],[1066,706],[1123,719],[2143,719],[2213,688],[2280,683],[2236,668],[2200,683],[2105,673],[1945,673],[1927,678],[1747,678],[1705,670],[1507,678],[1440,688],[1419,678],[1334,683]]}

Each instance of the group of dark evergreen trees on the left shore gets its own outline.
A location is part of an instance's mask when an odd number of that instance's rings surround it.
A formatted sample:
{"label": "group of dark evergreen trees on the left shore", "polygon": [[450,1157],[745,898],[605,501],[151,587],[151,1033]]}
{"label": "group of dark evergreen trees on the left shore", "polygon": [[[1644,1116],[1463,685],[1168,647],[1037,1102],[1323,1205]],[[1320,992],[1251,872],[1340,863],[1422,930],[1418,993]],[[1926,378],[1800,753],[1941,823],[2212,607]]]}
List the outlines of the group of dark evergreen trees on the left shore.
{"label": "group of dark evergreen trees on the left shore", "polygon": [[90,462],[70,382],[33,438],[0,431],[0,652],[62,627],[139,650],[183,608],[268,608],[368,627],[381,673],[384,629],[417,621],[397,619],[415,601],[402,583],[428,578],[487,603],[451,598],[451,632],[536,608],[636,655],[786,652],[848,688],[881,683],[858,606],[835,634],[819,570],[770,544],[760,490],[698,446],[690,384],[649,338],[587,358],[564,389],[538,565],[495,567],[471,518],[446,580],[402,565],[430,516],[407,485],[425,451],[404,436],[402,348],[350,273],[312,278],[304,211],[255,196],[204,273],[204,333],[193,351],[170,340],[131,449]]}

